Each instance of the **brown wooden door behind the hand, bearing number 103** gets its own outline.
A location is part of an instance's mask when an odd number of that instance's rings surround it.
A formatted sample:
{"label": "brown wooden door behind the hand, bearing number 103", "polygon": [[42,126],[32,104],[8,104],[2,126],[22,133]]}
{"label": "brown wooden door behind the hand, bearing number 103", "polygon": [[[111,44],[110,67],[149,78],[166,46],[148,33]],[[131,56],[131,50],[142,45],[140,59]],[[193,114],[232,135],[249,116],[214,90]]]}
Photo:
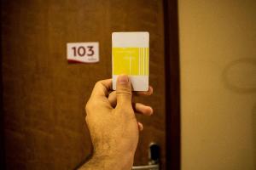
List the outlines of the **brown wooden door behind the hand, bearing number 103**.
{"label": "brown wooden door behind the hand, bearing number 103", "polygon": [[[111,77],[111,33],[148,31],[150,84],[139,99],[154,116],[144,124],[135,165],[148,164],[148,144],[165,169],[165,68],[162,1],[2,1],[2,74],[7,169],[73,169],[91,153],[84,100]],[[67,42],[99,42],[100,62],[68,64]],[[120,160],[121,161],[121,160]]]}

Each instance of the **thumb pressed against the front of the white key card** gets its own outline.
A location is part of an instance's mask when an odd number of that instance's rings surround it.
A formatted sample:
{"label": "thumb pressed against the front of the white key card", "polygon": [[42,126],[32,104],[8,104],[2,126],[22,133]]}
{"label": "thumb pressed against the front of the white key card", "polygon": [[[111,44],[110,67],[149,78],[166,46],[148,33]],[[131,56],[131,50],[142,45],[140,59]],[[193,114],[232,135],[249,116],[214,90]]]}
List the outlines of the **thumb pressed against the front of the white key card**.
{"label": "thumb pressed against the front of the white key card", "polygon": [[131,106],[131,81],[126,75],[120,75],[116,84],[117,105]]}

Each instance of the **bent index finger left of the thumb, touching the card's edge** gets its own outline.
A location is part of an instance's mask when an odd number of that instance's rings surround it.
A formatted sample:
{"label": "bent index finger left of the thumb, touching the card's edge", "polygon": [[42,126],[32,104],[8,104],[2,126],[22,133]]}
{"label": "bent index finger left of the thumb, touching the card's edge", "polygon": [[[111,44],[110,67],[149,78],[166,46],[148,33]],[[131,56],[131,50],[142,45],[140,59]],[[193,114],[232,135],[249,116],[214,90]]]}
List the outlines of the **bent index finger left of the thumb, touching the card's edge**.
{"label": "bent index finger left of the thumb, touching the card's edge", "polygon": [[106,79],[106,80],[101,80],[99,82],[96,82],[91,96],[102,96],[106,97],[108,96],[108,91],[111,90],[112,88],[112,79]]}

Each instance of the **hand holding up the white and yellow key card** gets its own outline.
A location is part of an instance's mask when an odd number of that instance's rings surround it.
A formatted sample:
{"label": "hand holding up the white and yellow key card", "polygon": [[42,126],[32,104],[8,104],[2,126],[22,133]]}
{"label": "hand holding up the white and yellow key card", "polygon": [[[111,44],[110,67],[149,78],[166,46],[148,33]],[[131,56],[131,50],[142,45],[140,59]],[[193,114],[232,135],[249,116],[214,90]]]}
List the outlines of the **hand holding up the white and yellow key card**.
{"label": "hand holding up the white and yellow key card", "polygon": [[[110,92],[112,80],[97,82],[85,106],[85,118],[94,147],[92,159],[83,167],[90,169],[131,169],[137,148],[139,130],[135,113],[151,115],[153,110],[143,104],[132,104],[131,82],[127,76],[119,76],[116,91]],[[148,92],[137,95],[150,95]],[[92,165],[91,165],[92,166]]]}

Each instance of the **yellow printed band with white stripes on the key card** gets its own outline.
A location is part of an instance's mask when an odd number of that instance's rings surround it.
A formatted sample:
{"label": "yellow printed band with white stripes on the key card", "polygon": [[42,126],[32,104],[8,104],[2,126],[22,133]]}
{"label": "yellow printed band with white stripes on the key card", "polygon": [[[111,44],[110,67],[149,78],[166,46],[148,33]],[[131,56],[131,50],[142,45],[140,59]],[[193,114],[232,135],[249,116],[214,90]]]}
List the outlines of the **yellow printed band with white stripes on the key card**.
{"label": "yellow printed band with white stripes on the key card", "polygon": [[149,48],[112,48],[113,75],[148,76]]}

